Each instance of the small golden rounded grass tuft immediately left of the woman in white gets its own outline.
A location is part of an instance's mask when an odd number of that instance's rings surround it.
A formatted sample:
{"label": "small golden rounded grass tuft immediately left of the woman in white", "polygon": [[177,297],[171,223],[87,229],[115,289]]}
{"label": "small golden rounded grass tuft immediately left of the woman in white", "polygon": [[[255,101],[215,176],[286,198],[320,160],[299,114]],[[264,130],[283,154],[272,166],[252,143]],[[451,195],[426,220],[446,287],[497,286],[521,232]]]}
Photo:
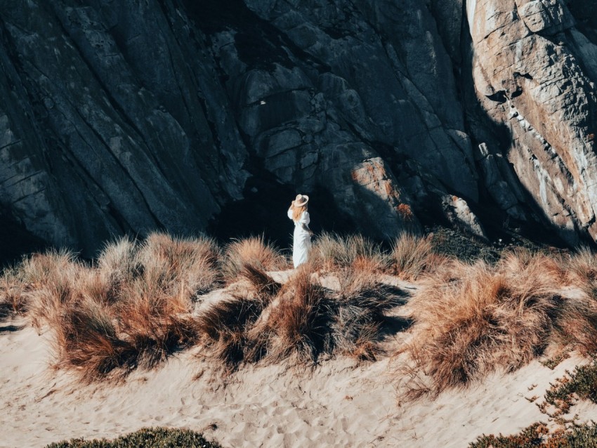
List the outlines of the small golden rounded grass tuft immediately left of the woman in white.
{"label": "small golden rounded grass tuft immediately left of the woman in white", "polygon": [[287,259],[263,235],[232,241],[225,247],[222,275],[227,282],[235,282],[245,266],[263,271],[287,269]]}

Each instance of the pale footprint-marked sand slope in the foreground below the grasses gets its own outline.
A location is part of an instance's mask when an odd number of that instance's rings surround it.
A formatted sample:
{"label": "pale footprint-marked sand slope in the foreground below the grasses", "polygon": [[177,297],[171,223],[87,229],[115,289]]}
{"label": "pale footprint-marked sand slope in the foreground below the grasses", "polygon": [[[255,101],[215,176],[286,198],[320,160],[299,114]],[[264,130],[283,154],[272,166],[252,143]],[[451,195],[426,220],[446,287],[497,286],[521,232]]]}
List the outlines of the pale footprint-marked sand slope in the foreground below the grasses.
{"label": "pale footprint-marked sand slope in the foreground below the grasses", "polygon": [[[235,448],[466,447],[482,433],[516,433],[548,421],[525,397],[541,402],[550,381],[584,362],[572,357],[554,371],[532,362],[467,390],[402,404],[388,358],[356,366],[339,357],[313,370],[242,367],[224,382],[195,349],[118,386],[81,386],[72,374],[51,369],[50,331],[2,328],[0,447],[11,448],[113,438],[145,426],[199,430]],[[397,348],[405,337],[389,345]],[[582,421],[597,420],[593,404],[570,414],[577,412]]]}

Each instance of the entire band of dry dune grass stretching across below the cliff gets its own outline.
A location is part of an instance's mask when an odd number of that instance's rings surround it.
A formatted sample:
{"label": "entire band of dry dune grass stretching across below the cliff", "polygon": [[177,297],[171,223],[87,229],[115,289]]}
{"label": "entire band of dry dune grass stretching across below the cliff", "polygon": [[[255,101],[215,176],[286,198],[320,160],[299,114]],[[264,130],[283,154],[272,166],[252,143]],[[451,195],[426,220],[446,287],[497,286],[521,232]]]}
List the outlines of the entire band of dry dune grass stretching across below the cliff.
{"label": "entire band of dry dune grass stretching across below the cliff", "polygon": [[[548,347],[594,353],[596,279],[588,249],[511,249],[490,263],[439,253],[432,237],[402,235],[383,249],[324,234],[290,271],[263,237],[219,246],[155,233],[107,244],[93,263],[67,251],[24,258],[0,277],[0,312],[50,328],[56,365],[84,381],[151,369],[190,347],[227,372],[402,353],[408,367],[396,377],[416,396],[518,369]],[[197,310],[216,289],[218,300]],[[408,342],[384,344],[411,322]]]}

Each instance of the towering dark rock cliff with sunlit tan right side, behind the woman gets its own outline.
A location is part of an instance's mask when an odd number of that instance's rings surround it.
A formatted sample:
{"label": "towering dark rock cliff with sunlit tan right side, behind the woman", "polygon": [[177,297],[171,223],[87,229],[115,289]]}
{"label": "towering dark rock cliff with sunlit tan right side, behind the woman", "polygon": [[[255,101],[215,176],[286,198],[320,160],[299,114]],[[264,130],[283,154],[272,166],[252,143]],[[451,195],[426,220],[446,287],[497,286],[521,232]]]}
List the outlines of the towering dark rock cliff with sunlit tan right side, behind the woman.
{"label": "towering dark rock cliff with sunlit tan right side, behind the woman", "polygon": [[6,0],[0,206],[90,256],[223,232],[239,201],[245,228],[287,226],[296,192],[372,237],[429,219],[483,237],[485,207],[595,237],[580,3]]}

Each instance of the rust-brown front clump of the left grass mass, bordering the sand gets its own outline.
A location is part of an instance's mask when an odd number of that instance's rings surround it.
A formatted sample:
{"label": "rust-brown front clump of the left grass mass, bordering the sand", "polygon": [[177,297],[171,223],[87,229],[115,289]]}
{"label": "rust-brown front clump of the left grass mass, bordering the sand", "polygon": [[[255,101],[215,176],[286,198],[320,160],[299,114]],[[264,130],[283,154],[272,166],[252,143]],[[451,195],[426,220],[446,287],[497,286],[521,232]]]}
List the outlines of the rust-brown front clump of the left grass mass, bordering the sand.
{"label": "rust-brown front clump of the left grass mass, bordering the sand", "polygon": [[50,322],[58,366],[74,369],[84,381],[118,378],[192,345],[198,331],[184,314],[186,303],[152,292],[127,285],[116,304],[81,296],[63,305]]}

